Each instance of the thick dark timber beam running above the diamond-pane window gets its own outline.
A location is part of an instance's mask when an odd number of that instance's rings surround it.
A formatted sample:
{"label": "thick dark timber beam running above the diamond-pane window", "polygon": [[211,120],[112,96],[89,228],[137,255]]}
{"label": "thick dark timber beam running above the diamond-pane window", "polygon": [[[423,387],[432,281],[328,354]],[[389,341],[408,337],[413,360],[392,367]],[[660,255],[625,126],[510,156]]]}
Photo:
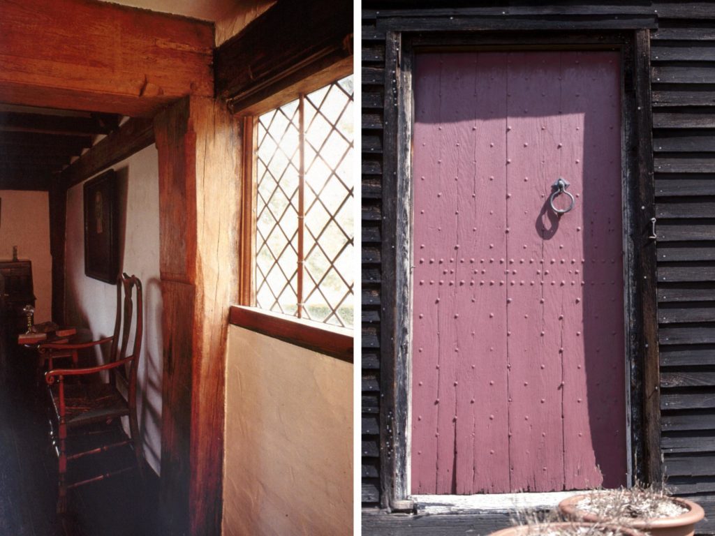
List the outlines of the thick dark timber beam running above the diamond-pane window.
{"label": "thick dark timber beam running above the diamond-pane window", "polygon": [[216,94],[235,113],[335,64],[350,71],[352,0],[277,2],[222,44],[215,64]]}

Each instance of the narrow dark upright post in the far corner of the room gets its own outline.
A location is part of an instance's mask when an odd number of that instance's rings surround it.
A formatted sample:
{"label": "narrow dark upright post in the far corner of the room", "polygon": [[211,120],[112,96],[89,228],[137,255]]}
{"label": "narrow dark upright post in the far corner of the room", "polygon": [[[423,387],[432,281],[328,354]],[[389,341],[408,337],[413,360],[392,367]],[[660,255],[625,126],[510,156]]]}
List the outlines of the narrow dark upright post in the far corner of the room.
{"label": "narrow dark upright post in the far corner of the room", "polygon": [[49,189],[49,251],[52,256],[52,320],[64,324],[64,245],[67,189],[52,180]]}

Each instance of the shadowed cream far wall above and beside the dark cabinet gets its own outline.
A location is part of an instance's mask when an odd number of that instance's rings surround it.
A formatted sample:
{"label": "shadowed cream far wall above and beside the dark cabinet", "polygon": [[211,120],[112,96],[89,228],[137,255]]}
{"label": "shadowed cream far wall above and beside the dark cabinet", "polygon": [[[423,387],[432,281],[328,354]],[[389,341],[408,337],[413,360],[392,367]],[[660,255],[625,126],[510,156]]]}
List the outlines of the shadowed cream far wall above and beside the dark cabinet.
{"label": "shadowed cream far wall above and beside the dark cabinet", "polygon": [[49,254],[49,198],[47,192],[0,190],[0,259],[32,261],[32,286],[36,297],[35,322],[51,320],[52,257]]}

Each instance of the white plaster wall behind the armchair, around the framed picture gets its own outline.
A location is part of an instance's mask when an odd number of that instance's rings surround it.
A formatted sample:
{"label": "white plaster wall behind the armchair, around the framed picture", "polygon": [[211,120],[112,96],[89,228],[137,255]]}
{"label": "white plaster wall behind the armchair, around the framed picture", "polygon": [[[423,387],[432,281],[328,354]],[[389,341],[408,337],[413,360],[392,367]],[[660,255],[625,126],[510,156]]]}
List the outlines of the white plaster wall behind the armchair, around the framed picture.
{"label": "white plaster wall behind the armchair, around the framed picture", "polygon": [[[159,170],[154,145],[113,166],[119,189],[122,270],[144,289],[144,340],[139,361],[138,412],[144,455],[159,472],[162,417],[162,293],[159,284]],[[82,184],[67,192],[67,322],[88,327],[94,337],[111,335],[117,287],[84,275]],[[107,349],[108,351],[108,349]]]}

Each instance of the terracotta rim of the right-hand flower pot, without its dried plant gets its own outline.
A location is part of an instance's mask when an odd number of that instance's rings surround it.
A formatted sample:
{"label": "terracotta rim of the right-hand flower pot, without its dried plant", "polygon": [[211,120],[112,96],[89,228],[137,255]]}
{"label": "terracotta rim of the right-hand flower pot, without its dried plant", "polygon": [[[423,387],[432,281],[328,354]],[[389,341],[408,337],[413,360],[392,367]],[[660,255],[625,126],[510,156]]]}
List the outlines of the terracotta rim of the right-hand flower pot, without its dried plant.
{"label": "terracotta rim of the right-hand flower pot, without its dried plant", "polygon": [[[578,502],[584,497],[586,495],[568,497],[558,504],[558,510],[572,520],[608,523],[609,520],[606,517],[598,517],[598,515],[578,510]],[[653,536],[693,536],[695,524],[705,517],[704,510],[700,505],[686,499],[672,497],[671,500],[686,507],[688,511],[673,517],[656,517],[650,520],[634,518],[632,521],[628,521],[628,526],[642,532],[649,532]]]}

